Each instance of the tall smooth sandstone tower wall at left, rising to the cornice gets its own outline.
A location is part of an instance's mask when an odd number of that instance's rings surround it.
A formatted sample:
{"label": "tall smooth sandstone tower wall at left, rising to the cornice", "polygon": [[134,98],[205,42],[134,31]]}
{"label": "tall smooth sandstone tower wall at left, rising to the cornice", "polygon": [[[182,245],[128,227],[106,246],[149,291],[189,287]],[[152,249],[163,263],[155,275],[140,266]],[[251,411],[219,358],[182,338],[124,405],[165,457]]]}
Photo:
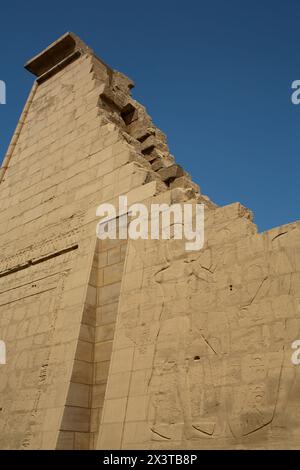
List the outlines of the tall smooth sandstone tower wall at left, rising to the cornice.
{"label": "tall smooth sandstone tower wall at left, rising to the cornice", "polygon": [[143,198],[134,188],[146,172],[99,105],[112,71],[73,42],[75,59],[62,38],[28,64],[43,75],[1,169],[1,448],[93,446],[109,361],[102,341],[124,259],[121,246],[97,246],[96,207],[122,188]]}

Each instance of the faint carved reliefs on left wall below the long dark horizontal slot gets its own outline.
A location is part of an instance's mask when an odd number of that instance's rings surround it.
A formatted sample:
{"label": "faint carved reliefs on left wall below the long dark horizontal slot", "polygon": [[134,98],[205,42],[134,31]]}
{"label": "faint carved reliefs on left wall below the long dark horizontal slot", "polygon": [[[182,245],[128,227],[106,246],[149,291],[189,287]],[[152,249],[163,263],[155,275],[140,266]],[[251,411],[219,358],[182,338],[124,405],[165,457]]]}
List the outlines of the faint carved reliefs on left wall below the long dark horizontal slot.
{"label": "faint carved reliefs on left wall below the long dark horizontal slot", "polygon": [[[47,393],[47,373],[53,335],[68,273],[69,270],[64,269],[59,273],[41,277],[42,271],[40,274],[36,272],[37,280],[25,283],[15,280],[12,286],[9,288],[3,286],[0,292],[0,316],[2,319],[9,318],[11,322],[9,330],[5,333],[9,338],[7,341],[9,360],[6,365],[8,370],[5,370],[6,380],[1,384],[3,418],[10,416],[13,410],[18,410],[19,416],[22,417],[22,410],[26,409],[26,400],[30,404],[30,419],[24,420],[23,427],[20,426],[20,439],[22,436],[22,440],[19,441],[20,448],[31,446],[32,429],[39,425],[41,420],[39,403],[43,393]],[[30,354],[27,348],[33,334],[37,339]],[[9,442],[9,430],[8,422],[7,435],[3,435],[1,439],[4,448],[7,445],[6,441]]]}

